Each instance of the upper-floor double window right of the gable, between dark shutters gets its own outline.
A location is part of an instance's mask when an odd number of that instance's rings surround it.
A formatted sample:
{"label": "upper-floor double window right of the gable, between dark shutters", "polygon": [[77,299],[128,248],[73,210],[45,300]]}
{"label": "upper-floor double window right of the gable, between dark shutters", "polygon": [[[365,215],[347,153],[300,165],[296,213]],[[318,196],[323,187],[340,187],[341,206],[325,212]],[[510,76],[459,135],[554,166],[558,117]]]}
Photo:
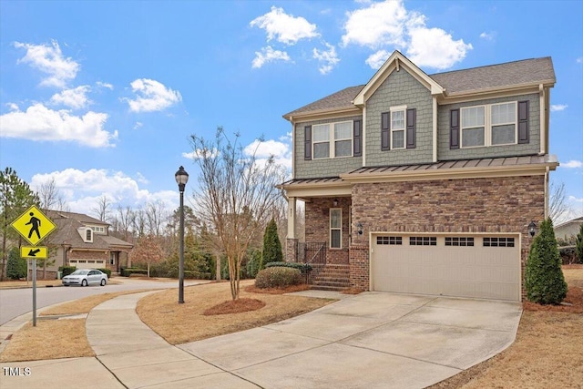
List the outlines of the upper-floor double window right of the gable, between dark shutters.
{"label": "upper-floor double window right of the gable, between dark shutters", "polygon": [[517,102],[461,108],[462,148],[517,143]]}

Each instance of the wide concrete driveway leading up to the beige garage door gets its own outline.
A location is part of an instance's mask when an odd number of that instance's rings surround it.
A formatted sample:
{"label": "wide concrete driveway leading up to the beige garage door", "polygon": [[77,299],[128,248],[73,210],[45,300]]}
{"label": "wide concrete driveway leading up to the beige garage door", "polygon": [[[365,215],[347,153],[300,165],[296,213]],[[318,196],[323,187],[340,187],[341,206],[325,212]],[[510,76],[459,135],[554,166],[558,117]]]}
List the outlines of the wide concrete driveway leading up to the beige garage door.
{"label": "wide concrete driveway leading up to the beige garage door", "polygon": [[179,348],[264,388],[422,388],[506,349],[521,312],[518,302],[364,292]]}

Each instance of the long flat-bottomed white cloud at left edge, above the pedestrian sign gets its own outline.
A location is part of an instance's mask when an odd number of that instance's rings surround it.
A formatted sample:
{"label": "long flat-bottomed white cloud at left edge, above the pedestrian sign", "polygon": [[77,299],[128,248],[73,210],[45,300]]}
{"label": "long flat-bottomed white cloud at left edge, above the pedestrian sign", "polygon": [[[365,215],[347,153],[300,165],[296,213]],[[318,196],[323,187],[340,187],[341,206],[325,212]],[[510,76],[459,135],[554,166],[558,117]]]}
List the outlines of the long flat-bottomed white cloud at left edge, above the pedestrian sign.
{"label": "long flat-bottomed white cloud at left edge, above the pedestrian sign", "polygon": [[67,140],[92,148],[113,147],[118,131],[107,132],[103,127],[107,114],[93,111],[82,117],[69,111],[52,110],[42,104],[15,110],[0,116],[0,137],[31,140]]}

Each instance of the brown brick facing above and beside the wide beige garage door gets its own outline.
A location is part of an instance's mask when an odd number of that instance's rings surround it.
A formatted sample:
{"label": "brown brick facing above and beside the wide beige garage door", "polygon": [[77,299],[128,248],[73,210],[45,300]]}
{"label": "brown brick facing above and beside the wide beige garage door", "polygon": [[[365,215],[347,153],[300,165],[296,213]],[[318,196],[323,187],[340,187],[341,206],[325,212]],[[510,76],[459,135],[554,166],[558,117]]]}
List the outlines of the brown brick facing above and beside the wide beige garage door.
{"label": "brown brick facing above and beside the wide beige garage door", "polygon": [[[532,220],[538,225],[544,218],[545,179],[540,175],[355,184],[352,206],[353,229],[363,223],[363,235],[354,234],[350,248],[353,287],[369,289],[369,231],[520,232],[524,274],[532,241],[527,225]],[[306,208],[307,240],[308,212]]]}

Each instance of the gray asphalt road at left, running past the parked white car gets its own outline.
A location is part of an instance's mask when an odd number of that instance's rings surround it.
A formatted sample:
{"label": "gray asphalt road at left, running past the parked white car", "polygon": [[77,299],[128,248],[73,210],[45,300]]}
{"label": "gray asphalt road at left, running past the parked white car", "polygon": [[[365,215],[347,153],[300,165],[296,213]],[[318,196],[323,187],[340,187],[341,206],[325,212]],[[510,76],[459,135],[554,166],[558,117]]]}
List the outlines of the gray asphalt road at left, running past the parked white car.
{"label": "gray asphalt road at left, running past the parked white car", "polygon": [[[56,304],[58,302],[68,302],[81,299],[87,296],[107,292],[135,291],[138,289],[169,289],[177,288],[176,300],[178,302],[178,280],[175,282],[156,282],[147,280],[134,280],[124,277],[116,277],[118,285],[107,284],[106,286],[56,286],[52,288],[36,288],[36,310]],[[199,282],[185,280],[184,285],[194,285]],[[32,312],[33,310],[33,290],[26,289],[3,289],[0,290],[0,325],[9,322],[21,314]]]}

